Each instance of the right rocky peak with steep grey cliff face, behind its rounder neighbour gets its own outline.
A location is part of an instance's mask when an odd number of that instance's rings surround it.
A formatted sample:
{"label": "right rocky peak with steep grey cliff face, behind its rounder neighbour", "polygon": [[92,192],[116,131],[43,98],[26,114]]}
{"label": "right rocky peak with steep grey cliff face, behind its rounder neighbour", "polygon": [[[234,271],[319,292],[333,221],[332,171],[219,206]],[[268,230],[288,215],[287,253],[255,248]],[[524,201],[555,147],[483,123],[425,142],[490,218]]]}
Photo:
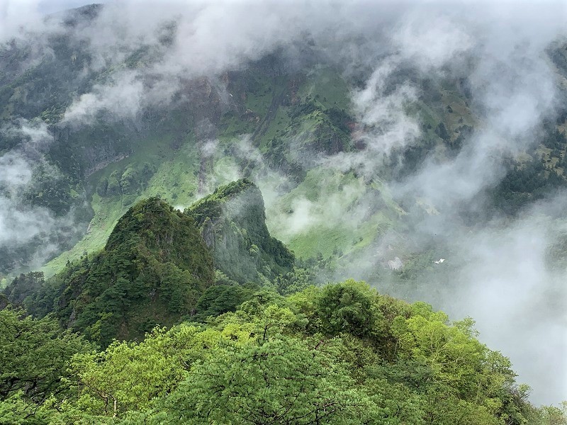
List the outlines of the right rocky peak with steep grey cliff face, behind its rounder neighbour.
{"label": "right rocky peak with steep grey cliff face, behind its rounder neighbour", "polygon": [[215,268],[238,283],[264,283],[290,271],[294,257],[266,227],[264,198],[247,179],[221,186],[185,211],[193,217]]}

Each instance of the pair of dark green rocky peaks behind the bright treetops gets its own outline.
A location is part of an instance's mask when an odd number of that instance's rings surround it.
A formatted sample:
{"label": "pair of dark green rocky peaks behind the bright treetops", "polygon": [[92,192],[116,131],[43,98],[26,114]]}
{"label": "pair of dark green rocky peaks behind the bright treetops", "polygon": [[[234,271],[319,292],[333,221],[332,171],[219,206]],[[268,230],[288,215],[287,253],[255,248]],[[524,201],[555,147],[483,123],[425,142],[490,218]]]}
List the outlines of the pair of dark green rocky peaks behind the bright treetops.
{"label": "pair of dark green rocky peaks behind the bright treetops", "polygon": [[[142,338],[156,325],[235,310],[246,288],[291,272],[295,258],[265,220],[262,193],[247,179],[220,186],[185,212],[148,198],[120,217],[101,251],[67,263],[47,282],[43,273],[22,275],[4,293],[102,346]],[[208,290],[213,283],[219,286]]]}

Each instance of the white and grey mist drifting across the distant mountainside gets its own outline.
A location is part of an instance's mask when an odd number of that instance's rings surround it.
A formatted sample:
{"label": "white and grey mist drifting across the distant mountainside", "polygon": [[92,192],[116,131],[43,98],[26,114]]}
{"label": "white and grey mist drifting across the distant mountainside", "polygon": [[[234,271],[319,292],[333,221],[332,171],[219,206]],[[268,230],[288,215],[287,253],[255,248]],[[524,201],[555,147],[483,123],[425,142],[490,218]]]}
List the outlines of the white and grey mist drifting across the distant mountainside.
{"label": "white and grey mist drifting across the distant mountainside", "polygon": [[[44,20],[39,6],[36,1],[18,2],[17,6],[12,1],[0,2],[0,42],[13,38],[33,45],[43,40],[42,33],[66,32],[89,52],[85,74],[104,77],[75,96],[64,113],[64,124],[80,128],[99,117],[136,118],[145,108],[167,105],[186,81],[220,81],[223,73],[245,69],[249,62],[274,52],[288,58],[290,69],[301,67],[307,62],[305,57],[315,55],[338,65],[347,79],[364,77],[352,88],[352,114],[357,121],[353,138],[362,147],[356,152],[327,154],[317,164],[336,171],[354,169],[366,181],[386,180],[384,164],[391,152],[420,142],[423,117],[410,113],[410,106],[422,99],[420,79],[466,81],[461,89],[466,89],[479,123],[459,154],[442,161],[432,155],[415,174],[389,186],[395,197],[422,198],[437,212],[434,220],[430,215],[412,218],[412,228],[421,238],[417,244],[426,246],[435,238],[453,240],[471,259],[471,266],[456,276],[462,281],[458,293],[450,293],[456,298],[430,301],[456,315],[470,312],[478,321],[482,339],[502,348],[520,370],[520,380],[532,383],[534,400],[567,398],[553,368],[533,360],[539,356],[554,361],[556,369],[562,370],[560,379],[565,376],[565,317],[554,308],[541,315],[545,307],[539,307],[554,305],[566,290],[547,271],[544,261],[546,246],[553,241],[551,227],[532,218],[549,215],[549,209],[532,210],[527,219],[488,223],[486,231],[464,227],[457,217],[467,203],[483,208],[472,204],[503,178],[505,159],[537,146],[544,121],[556,118],[558,82],[546,49],[567,36],[566,8],[561,1],[519,6],[505,1],[451,5],[354,1],[347,5],[327,0],[126,0],[108,2],[94,21],[75,27],[61,26],[57,17]],[[47,50],[37,48],[35,55],[46,55]],[[219,87],[216,89],[222,91],[222,84]],[[33,174],[34,149],[38,161],[42,160],[34,144],[48,141],[39,137],[46,134],[45,128],[20,125],[18,131],[25,142],[0,157],[0,185],[4,186],[0,244],[30,240],[56,227],[49,212],[23,209],[18,199]],[[231,154],[254,164],[252,174],[266,203],[275,205],[281,188],[293,184],[281,172],[271,170],[249,140],[237,139]],[[293,145],[293,140],[288,142]],[[208,138],[199,143],[205,157],[223,154],[220,143]],[[225,178],[240,176],[231,164],[215,172]],[[222,180],[223,176],[211,176],[204,181],[203,191]],[[379,195],[369,195],[364,186],[358,186],[360,182],[330,194],[323,204],[304,196],[291,200],[291,212],[281,212],[281,222],[286,223],[281,232],[291,237],[321,223],[364,220],[366,207],[371,205],[366,197]],[[529,252],[523,247],[529,247]],[[367,263],[375,267],[376,259]],[[461,299],[466,305],[459,303]],[[555,342],[545,344],[546,340]],[[544,381],[556,383],[546,387]]]}

